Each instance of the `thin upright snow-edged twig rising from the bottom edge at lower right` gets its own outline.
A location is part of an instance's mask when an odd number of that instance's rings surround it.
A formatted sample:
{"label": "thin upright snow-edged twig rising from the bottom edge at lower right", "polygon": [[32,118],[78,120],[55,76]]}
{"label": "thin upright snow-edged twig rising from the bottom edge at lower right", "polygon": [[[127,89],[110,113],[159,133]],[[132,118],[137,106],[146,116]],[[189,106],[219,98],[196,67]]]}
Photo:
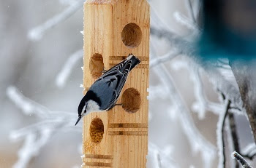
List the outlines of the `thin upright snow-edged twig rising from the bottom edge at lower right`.
{"label": "thin upright snow-edged twig rising from the bottom edge at lower right", "polygon": [[219,121],[217,123],[217,147],[219,155],[218,168],[225,167],[225,142],[224,142],[224,127],[225,119],[230,108],[230,100],[225,100],[225,111],[219,113]]}

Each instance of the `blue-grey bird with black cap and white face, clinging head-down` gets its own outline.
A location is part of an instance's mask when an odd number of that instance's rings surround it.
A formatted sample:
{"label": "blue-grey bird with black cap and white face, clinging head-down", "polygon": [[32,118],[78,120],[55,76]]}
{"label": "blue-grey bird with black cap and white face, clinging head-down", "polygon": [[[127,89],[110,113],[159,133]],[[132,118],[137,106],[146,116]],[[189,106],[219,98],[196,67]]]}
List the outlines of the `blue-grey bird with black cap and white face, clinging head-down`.
{"label": "blue-grey bird with black cap and white face, clinging head-down", "polygon": [[138,57],[129,54],[121,63],[114,65],[108,71],[102,71],[102,76],[99,76],[99,79],[91,85],[79,103],[78,120],[75,125],[83,116],[91,112],[109,111],[113,108],[127,81],[129,72],[139,63]]}

